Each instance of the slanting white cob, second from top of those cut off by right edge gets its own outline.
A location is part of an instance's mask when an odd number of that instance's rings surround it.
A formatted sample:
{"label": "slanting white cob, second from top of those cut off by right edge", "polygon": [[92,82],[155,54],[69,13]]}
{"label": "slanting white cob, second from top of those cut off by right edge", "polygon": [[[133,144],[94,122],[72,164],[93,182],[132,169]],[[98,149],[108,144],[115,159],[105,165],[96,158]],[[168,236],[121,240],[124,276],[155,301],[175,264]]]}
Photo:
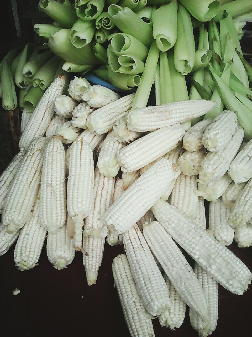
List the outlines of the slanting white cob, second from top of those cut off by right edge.
{"label": "slanting white cob, second from top of those cut off by right edge", "polygon": [[232,228],[244,226],[252,218],[252,179],[250,179],[235,202],[228,218]]}

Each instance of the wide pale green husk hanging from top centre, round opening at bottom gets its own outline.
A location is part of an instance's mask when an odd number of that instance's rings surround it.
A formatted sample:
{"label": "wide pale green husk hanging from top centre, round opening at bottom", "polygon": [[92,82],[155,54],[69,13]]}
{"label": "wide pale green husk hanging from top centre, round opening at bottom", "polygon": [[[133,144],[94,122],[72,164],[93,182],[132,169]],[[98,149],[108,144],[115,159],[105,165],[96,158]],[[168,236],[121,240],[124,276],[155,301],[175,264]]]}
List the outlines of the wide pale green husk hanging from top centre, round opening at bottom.
{"label": "wide pale green husk hanging from top centre, round opening at bottom", "polygon": [[176,42],[177,10],[177,0],[172,0],[171,3],[160,6],[153,13],[153,36],[161,52],[169,50]]}

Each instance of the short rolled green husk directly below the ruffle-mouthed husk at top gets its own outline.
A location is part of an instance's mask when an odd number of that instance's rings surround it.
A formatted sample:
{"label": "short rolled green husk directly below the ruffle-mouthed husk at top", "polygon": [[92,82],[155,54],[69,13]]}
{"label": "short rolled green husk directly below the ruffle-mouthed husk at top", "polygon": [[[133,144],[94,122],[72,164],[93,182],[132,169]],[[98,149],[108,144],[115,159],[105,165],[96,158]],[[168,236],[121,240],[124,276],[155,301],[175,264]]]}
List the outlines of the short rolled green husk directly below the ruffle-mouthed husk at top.
{"label": "short rolled green husk directly below the ruffle-mouthed husk at top", "polygon": [[93,21],[84,21],[79,19],[73,25],[70,31],[70,39],[76,48],[83,48],[92,41],[95,32]]}

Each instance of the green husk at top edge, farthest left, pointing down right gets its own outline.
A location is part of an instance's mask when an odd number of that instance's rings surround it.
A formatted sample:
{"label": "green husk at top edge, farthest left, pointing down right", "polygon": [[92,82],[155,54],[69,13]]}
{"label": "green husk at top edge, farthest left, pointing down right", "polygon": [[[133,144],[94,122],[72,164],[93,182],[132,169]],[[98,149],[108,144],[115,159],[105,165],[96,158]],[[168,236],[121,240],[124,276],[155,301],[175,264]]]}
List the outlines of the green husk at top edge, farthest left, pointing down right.
{"label": "green husk at top edge, farthest left, pointing down right", "polygon": [[40,0],[39,10],[46,13],[64,28],[71,28],[78,20],[72,6],[69,7],[54,0]]}

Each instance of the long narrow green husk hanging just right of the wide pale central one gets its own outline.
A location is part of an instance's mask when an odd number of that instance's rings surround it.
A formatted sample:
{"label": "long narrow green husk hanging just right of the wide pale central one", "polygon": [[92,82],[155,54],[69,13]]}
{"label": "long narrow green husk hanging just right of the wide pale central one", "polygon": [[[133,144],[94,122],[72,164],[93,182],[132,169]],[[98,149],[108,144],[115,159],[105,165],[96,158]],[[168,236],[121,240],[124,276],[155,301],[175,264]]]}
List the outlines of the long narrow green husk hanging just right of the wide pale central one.
{"label": "long narrow green husk hanging just right of the wide pale central one", "polygon": [[177,40],[174,45],[174,64],[183,75],[190,73],[194,66],[195,44],[190,14],[178,4]]}

